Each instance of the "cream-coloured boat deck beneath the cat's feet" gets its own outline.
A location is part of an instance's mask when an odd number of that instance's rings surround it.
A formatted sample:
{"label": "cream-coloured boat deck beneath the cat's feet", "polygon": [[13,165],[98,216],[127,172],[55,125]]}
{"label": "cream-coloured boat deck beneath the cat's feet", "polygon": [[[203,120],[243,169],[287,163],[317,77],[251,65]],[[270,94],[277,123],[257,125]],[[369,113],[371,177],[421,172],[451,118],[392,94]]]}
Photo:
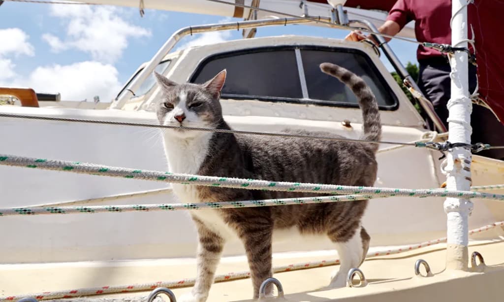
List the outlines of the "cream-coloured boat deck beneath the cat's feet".
{"label": "cream-coloured boat deck beneath the cat's feet", "polygon": [[[424,301],[447,300],[457,296],[459,300],[474,300],[485,293],[488,301],[497,300],[496,295],[504,280],[504,256],[501,251],[504,242],[473,241],[469,253],[480,252],[487,267],[485,274],[474,272],[450,272],[445,269],[445,245],[435,245],[426,249],[399,255],[390,255],[366,260],[360,267],[368,285],[365,287],[323,290],[329,283],[331,272],[337,267],[329,266],[275,274],[282,282],[289,301]],[[311,262],[328,259],[327,254],[282,254],[274,259],[274,265]],[[433,277],[415,276],[414,263],[424,259],[430,265]],[[223,258],[217,274],[246,271],[244,257]],[[424,275],[425,272],[421,270]],[[143,260],[129,262],[61,263],[61,264],[19,264],[0,266],[4,296],[21,293],[36,293],[61,289],[98,287],[131,283],[178,280],[194,277],[194,259]],[[479,286],[478,284],[483,284]],[[459,288],[451,290],[450,288]],[[173,289],[180,296],[190,288]],[[108,298],[143,297],[146,292],[107,295]],[[249,279],[216,283],[210,291],[209,302],[249,301],[251,283]],[[101,298],[101,297],[93,297]],[[72,300],[72,299],[70,299]]]}

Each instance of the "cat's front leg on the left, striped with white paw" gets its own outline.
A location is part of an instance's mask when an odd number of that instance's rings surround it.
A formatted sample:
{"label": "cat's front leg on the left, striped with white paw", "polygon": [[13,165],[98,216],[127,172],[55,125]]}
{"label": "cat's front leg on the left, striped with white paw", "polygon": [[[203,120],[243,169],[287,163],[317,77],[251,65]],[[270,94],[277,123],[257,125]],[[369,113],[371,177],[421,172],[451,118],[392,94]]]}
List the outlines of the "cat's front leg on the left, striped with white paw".
{"label": "cat's front leg on the left, striped with white paw", "polygon": [[199,238],[198,272],[193,290],[177,298],[180,302],[205,302],[207,300],[224,247],[224,239],[221,236],[207,228],[198,218],[193,217],[193,220],[198,228]]}

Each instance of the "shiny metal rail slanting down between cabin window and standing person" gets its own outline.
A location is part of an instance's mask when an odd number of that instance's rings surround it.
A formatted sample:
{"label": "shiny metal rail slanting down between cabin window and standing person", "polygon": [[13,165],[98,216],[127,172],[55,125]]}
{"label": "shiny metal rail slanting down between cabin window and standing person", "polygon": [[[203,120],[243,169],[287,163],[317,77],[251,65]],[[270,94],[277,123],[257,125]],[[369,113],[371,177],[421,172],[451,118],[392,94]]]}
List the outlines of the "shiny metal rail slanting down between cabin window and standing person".
{"label": "shiny metal rail slanting down between cabin window and standing person", "polygon": [[[379,32],[376,26],[372,24],[371,22],[367,20],[351,20],[350,24],[352,23],[357,23],[360,25],[363,25],[367,27],[370,31],[372,32]],[[411,76],[408,74],[408,71],[404,66],[402,65],[401,61],[399,61],[399,58],[396,56],[394,51],[392,51],[392,48],[390,48],[389,44],[387,41],[385,41],[385,38],[379,35],[373,35],[375,41],[377,41],[380,45],[380,48],[382,48],[383,52],[385,53],[385,56],[389,59],[390,64],[392,64],[392,67],[396,70],[396,72],[399,74],[399,76],[403,80],[407,80],[411,87],[418,91],[421,94],[420,88],[418,88],[418,85],[416,85],[415,81]],[[420,97],[416,98],[420,102],[420,106],[425,110],[429,118],[432,120],[434,123],[434,126],[437,128],[437,130],[440,133],[447,132],[447,129],[445,127],[445,124],[443,124],[443,121],[439,118],[437,113],[434,111],[434,107],[432,104],[425,98],[425,97]]]}

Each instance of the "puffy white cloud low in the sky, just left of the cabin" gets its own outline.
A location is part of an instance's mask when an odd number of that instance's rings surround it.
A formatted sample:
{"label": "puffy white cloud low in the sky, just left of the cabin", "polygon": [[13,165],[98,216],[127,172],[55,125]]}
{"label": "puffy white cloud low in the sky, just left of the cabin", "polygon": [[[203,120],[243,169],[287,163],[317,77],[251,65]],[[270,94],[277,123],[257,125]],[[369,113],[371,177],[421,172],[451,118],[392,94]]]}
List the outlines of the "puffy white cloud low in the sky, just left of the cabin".
{"label": "puffy white cloud low in the sky, just left of the cabin", "polygon": [[92,101],[98,95],[102,102],[109,102],[121,87],[117,75],[110,64],[86,61],[37,67],[25,82],[35,91],[59,92],[62,100]]}

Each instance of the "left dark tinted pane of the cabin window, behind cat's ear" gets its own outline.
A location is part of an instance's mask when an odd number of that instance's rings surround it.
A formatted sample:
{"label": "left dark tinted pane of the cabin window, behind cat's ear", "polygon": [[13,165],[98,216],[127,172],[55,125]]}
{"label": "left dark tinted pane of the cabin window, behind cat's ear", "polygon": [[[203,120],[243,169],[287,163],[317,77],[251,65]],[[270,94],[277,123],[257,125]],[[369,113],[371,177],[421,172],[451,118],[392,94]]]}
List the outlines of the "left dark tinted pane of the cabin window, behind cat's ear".
{"label": "left dark tinted pane of the cabin window, behind cat's ear", "polygon": [[261,52],[234,52],[207,59],[192,77],[204,83],[221,70],[227,70],[222,96],[259,98],[302,98],[296,55],[293,49]]}

